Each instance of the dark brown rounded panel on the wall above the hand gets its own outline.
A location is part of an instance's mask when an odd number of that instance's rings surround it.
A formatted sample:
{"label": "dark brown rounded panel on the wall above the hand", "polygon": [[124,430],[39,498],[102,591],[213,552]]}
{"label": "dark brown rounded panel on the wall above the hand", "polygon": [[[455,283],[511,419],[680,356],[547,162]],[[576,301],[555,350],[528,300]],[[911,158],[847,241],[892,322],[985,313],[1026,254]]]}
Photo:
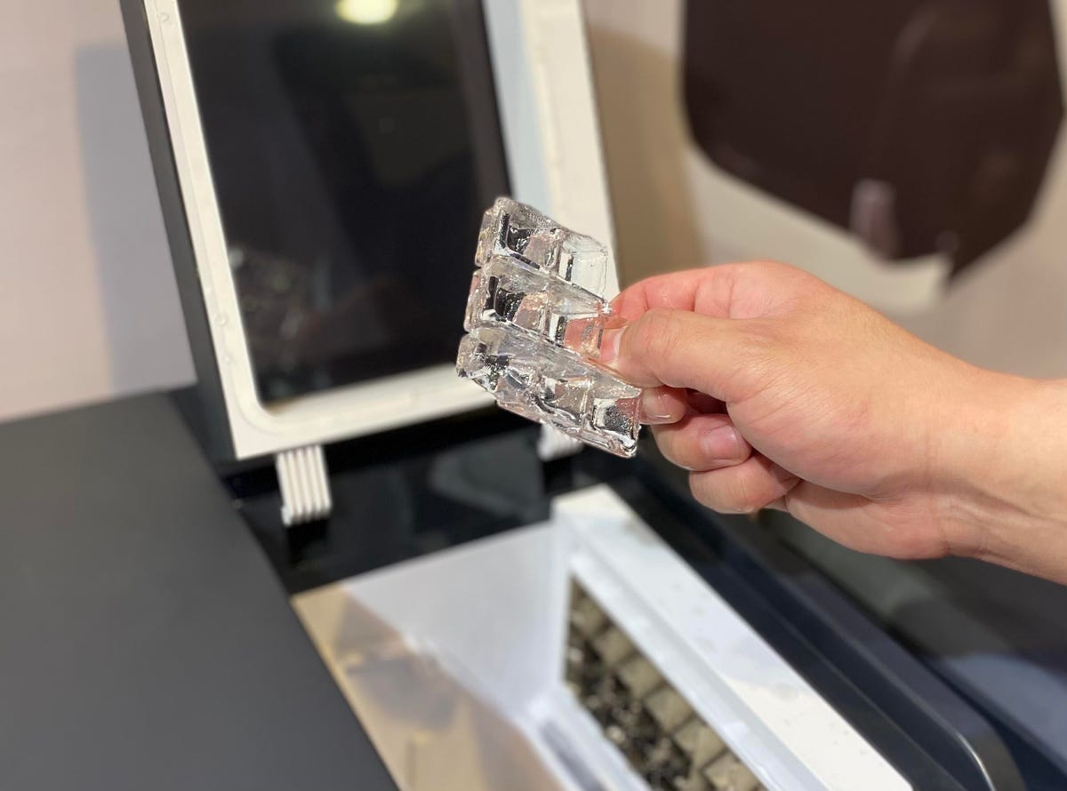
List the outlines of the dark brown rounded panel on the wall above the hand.
{"label": "dark brown rounded panel on the wall above the hand", "polygon": [[690,0],[684,46],[706,155],[889,259],[1017,230],[1063,117],[1049,0]]}

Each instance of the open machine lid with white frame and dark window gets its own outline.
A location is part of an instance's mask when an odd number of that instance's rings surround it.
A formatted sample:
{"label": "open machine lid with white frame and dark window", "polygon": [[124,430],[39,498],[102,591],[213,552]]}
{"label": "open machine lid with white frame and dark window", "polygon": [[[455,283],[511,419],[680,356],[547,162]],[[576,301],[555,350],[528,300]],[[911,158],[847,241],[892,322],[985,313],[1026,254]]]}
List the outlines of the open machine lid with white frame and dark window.
{"label": "open machine lid with white frame and dark window", "polygon": [[455,374],[483,209],[610,238],[578,4],[125,6],[216,455],[490,403]]}

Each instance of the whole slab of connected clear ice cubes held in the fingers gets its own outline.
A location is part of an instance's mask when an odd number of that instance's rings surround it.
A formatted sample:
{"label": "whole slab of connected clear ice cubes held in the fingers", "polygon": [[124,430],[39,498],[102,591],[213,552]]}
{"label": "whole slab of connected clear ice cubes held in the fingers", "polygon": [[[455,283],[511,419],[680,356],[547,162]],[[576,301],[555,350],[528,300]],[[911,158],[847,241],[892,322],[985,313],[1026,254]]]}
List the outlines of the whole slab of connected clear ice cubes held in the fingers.
{"label": "whole slab of connected clear ice cubes held in the fingers", "polygon": [[499,198],[485,212],[456,368],[505,409],[633,456],[640,389],[598,362],[607,248]]}

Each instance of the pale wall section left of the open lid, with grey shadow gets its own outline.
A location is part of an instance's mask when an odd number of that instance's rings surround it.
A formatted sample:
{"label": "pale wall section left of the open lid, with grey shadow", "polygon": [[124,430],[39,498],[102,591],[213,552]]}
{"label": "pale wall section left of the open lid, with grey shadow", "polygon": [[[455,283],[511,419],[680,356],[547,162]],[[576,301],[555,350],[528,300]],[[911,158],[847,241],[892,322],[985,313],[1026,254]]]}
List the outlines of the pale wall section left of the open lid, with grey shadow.
{"label": "pale wall section left of the open lid, with grey shadow", "polygon": [[117,0],[0,3],[0,419],[192,380]]}

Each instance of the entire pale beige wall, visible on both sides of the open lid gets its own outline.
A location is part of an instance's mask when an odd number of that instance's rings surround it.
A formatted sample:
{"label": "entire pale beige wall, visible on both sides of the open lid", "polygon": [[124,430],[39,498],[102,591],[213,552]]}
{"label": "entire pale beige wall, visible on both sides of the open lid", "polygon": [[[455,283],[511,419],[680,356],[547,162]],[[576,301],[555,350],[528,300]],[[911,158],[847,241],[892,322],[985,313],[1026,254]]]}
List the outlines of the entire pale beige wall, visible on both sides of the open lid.
{"label": "entire pale beige wall, visible on both sides of the open lid", "polygon": [[[680,0],[584,2],[624,279],[783,258],[972,360],[1067,374],[1063,156],[1028,232],[942,294],[937,261],[880,267],[688,146]],[[116,0],[0,3],[0,420],[191,381]]]}

